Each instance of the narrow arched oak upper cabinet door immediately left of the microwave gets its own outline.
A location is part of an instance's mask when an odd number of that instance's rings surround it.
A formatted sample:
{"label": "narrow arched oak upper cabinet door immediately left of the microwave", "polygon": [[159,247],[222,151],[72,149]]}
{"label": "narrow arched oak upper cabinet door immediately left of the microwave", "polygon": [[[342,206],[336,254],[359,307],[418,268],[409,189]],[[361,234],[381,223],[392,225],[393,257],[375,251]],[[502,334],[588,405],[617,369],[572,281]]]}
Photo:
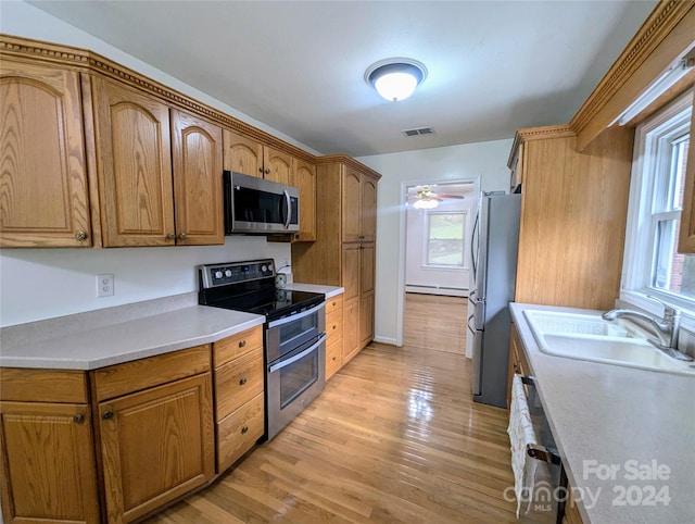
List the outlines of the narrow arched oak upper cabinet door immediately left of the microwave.
{"label": "narrow arched oak upper cabinet door immediately left of the microwave", "polygon": [[176,244],[225,244],[222,128],[172,110]]}

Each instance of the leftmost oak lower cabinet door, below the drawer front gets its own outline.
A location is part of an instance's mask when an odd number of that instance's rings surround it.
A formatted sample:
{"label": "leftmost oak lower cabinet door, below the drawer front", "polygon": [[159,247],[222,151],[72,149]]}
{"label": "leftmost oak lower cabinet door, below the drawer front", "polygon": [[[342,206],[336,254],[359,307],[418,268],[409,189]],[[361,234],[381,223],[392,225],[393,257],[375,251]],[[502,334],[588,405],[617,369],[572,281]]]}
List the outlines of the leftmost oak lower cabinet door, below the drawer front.
{"label": "leftmost oak lower cabinet door, below the drawer front", "polygon": [[4,522],[99,523],[89,406],[0,403]]}

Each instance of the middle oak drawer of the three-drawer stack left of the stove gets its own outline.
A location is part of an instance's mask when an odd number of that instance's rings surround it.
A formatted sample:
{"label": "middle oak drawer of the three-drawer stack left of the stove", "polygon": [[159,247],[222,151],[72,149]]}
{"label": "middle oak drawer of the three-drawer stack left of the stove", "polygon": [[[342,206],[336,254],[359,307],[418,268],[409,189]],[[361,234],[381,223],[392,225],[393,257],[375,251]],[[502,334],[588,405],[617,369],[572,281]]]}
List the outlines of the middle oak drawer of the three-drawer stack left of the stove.
{"label": "middle oak drawer of the three-drawer stack left of the stove", "polygon": [[222,421],[260,392],[263,392],[263,349],[215,370],[215,419]]}

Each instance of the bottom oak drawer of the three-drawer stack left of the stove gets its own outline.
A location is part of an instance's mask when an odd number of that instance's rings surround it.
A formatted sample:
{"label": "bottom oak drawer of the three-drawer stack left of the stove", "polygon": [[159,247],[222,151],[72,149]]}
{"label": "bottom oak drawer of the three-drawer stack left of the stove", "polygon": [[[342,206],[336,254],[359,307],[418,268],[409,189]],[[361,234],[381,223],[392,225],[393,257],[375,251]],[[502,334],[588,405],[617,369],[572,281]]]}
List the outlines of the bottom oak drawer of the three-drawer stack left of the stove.
{"label": "bottom oak drawer of the three-drawer stack left of the stove", "polygon": [[265,433],[263,394],[217,424],[217,473],[233,464]]}

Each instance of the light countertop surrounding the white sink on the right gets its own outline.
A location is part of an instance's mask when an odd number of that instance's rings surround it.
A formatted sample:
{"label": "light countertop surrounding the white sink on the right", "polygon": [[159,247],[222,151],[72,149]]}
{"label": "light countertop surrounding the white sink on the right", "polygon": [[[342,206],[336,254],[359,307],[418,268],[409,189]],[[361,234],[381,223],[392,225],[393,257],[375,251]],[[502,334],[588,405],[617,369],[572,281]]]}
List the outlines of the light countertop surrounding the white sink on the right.
{"label": "light countertop surrounding the white sink on the right", "polygon": [[525,309],[587,310],[510,305],[584,523],[694,522],[695,377],[543,353]]}

